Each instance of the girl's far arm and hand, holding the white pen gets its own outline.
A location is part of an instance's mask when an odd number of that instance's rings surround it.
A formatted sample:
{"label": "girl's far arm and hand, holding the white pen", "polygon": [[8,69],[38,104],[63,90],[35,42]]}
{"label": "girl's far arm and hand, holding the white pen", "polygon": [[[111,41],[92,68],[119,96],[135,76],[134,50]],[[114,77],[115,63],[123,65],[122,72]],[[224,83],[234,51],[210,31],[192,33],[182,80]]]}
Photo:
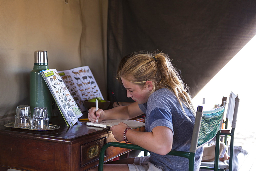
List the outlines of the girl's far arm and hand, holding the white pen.
{"label": "girl's far arm and hand, holding the white pen", "polygon": [[96,111],[96,108],[92,107],[89,109],[88,119],[91,122],[96,122],[97,117],[99,118],[99,122],[110,119],[129,120],[141,114],[143,114],[143,112],[140,110],[138,103],[134,102],[128,106],[118,106],[104,111],[102,109]]}

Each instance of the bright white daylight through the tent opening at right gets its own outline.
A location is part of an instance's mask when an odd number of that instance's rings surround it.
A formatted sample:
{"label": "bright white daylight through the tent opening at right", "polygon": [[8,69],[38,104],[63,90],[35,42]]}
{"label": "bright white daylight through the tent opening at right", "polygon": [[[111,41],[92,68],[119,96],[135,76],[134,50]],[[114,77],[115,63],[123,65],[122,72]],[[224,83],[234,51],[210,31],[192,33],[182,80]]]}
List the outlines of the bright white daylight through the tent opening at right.
{"label": "bright white daylight through the tent opening at right", "polygon": [[[246,146],[248,143],[256,145],[256,130],[254,129],[256,119],[255,100],[255,82],[256,82],[256,36],[254,36],[228,63],[224,66],[214,78],[192,99],[195,106],[202,105],[203,98],[205,110],[214,108],[215,104],[220,104],[222,97],[227,97],[232,91],[238,94],[240,99],[237,116],[237,125],[234,145]],[[220,84],[216,85],[216,80]],[[227,112],[227,108],[225,110]],[[226,112],[225,117],[226,118]],[[247,141],[248,138],[251,141]],[[246,141],[244,141],[246,140]],[[246,144],[247,143],[247,144]]]}

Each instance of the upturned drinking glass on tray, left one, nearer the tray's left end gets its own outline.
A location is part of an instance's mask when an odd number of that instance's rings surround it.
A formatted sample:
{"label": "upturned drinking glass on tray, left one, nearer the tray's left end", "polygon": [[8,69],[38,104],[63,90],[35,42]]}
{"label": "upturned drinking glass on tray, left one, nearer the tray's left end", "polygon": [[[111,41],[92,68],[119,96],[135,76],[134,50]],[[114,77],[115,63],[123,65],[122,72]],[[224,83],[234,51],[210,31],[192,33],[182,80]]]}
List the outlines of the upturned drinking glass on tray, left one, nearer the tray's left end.
{"label": "upturned drinking glass on tray, left one, nearer the tray's left end", "polygon": [[16,107],[14,126],[20,128],[31,127],[30,106],[21,105]]}

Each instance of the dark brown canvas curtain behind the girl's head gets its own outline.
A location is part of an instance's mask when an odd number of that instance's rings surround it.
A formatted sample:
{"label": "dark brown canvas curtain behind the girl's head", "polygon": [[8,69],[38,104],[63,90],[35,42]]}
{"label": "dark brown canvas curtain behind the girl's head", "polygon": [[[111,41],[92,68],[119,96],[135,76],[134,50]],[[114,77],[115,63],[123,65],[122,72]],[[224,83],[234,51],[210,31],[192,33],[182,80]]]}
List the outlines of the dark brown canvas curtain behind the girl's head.
{"label": "dark brown canvas curtain behind the girl's head", "polygon": [[114,78],[119,61],[135,51],[155,50],[168,54],[194,97],[256,34],[255,28],[254,0],[110,0],[108,98],[114,100],[114,91],[119,101],[129,101]]}

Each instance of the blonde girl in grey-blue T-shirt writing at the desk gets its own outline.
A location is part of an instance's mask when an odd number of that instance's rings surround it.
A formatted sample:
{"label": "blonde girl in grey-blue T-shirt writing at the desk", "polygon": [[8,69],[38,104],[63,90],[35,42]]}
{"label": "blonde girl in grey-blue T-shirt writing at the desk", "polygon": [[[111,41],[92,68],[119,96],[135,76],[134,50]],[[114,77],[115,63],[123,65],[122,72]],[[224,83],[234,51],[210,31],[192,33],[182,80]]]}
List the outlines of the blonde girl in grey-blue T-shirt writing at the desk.
{"label": "blonde girl in grey-blue T-shirt writing at the desk", "polygon": [[[164,53],[135,53],[118,72],[135,103],[110,110],[89,109],[91,122],[110,119],[129,120],[143,113],[145,132],[138,132],[120,123],[112,126],[117,141],[131,142],[151,151],[150,156],[124,159],[118,164],[106,164],[104,170],[188,170],[188,159],[166,155],[171,150],[189,151],[195,122],[195,112],[185,84]],[[195,157],[199,170],[202,148]],[[97,169],[97,168],[95,168]]]}

